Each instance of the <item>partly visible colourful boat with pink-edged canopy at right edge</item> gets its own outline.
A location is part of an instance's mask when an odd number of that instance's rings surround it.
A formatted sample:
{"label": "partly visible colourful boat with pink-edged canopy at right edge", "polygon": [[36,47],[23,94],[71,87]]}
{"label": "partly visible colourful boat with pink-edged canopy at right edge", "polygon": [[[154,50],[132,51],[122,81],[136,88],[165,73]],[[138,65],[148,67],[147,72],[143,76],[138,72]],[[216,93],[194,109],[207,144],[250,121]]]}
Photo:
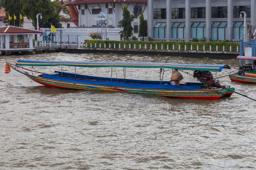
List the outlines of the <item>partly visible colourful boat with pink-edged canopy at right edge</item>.
{"label": "partly visible colourful boat with pink-edged canopy at right edge", "polygon": [[230,80],[232,82],[256,84],[256,57],[238,56],[236,59],[244,59],[248,63],[239,65],[239,71],[235,74],[230,74]]}

